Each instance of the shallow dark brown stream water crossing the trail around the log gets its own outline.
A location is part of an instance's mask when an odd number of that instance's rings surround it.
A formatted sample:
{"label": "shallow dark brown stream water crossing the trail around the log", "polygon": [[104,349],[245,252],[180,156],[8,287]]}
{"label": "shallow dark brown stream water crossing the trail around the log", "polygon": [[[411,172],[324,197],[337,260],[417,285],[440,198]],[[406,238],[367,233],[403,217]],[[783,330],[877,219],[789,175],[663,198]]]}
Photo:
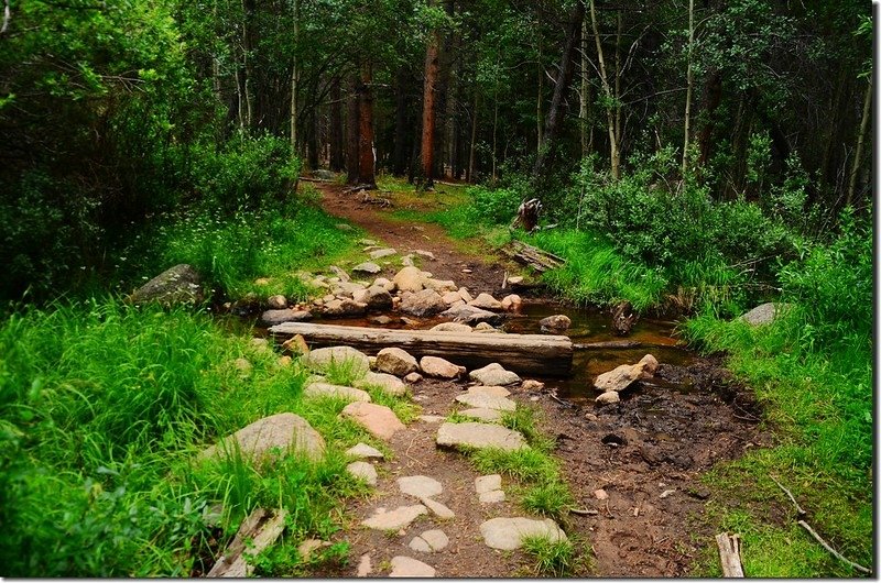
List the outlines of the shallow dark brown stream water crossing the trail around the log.
{"label": "shallow dark brown stream water crossing the trail around the log", "polygon": [[[577,344],[591,342],[609,341],[635,341],[640,345],[635,348],[589,348],[578,349],[576,346],[573,359],[573,372],[568,378],[545,378],[548,386],[557,389],[557,395],[562,398],[579,402],[579,405],[587,405],[597,395],[591,381],[601,373],[611,371],[620,364],[633,364],[646,353],[653,354],[662,364],[673,364],[687,366],[695,361],[694,352],[685,349],[674,338],[676,323],[666,320],[653,320],[640,318],[633,326],[630,336],[621,338],[616,336],[609,328],[611,317],[607,311],[598,308],[575,308],[557,302],[525,301],[520,314],[509,315],[502,329],[505,332],[519,334],[540,334],[539,322],[555,314],[564,314],[572,319],[572,327],[565,332]],[[225,318],[226,319],[226,318]],[[377,321],[378,316],[366,316],[360,318],[320,318],[314,321],[319,323],[337,326],[358,326],[368,328],[389,328],[394,330],[427,330],[433,326],[447,321],[442,318],[400,318],[391,316],[389,322]],[[231,321],[235,320],[235,321]],[[265,336],[265,328],[260,328],[254,317],[229,318],[226,324],[237,331],[253,326],[253,333]],[[665,383],[661,380],[653,381],[656,386],[663,386],[672,391],[688,392],[690,387]]]}

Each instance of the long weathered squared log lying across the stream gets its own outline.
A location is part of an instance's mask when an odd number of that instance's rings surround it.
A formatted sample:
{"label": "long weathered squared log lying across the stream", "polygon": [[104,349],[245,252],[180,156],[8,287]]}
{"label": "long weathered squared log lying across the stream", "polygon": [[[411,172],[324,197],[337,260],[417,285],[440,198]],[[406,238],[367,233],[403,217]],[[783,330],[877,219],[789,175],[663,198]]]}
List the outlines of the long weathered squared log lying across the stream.
{"label": "long weathered squared log lying across the stream", "polygon": [[498,362],[509,371],[546,376],[566,376],[572,370],[572,340],[565,336],[389,330],[312,322],[284,322],[270,327],[269,332],[276,341],[301,334],[311,345],[347,345],[367,354],[398,346],[416,359],[440,356],[468,369]]}

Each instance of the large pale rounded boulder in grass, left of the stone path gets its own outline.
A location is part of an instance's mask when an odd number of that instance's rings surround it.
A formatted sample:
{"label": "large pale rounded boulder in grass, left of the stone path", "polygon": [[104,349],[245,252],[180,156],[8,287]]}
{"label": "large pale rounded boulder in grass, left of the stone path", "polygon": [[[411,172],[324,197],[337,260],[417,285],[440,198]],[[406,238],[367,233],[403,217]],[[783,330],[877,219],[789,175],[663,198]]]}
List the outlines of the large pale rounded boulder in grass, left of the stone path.
{"label": "large pale rounded boulder in grass, left of the stone path", "polygon": [[292,413],[264,417],[203,451],[203,458],[232,453],[238,448],[248,458],[276,457],[278,451],[301,453],[312,460],[324,457],[324,438],[308,421]]}

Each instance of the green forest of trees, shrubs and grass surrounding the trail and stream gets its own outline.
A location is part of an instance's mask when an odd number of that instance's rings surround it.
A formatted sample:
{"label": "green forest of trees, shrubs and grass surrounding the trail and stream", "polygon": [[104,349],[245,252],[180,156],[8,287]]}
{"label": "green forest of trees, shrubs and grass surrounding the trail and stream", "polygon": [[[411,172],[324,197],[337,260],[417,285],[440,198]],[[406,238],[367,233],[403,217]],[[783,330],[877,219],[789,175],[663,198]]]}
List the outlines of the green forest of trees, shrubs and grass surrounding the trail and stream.
{"label": "green forest of trees, shrubs and grass surrounding the trail and stream", "polygon": [[[724,352],[774,438],[707,474],[708,520],[754,549],[748,575],[864,573],[779,519],[768,476],[785,476],[874,569],[869,2],[4,0],[0,46],[0,575],[203,574],[282,498],[292,541],[339,530],[361,433],[312,405],[325,465],[187,470],[300,399],[308,375],[273,372],[218,312],[308,301],[303,271],[363,246],[320,180],[478,254],[553,253],[563,267],[529,275],[556,298],[627,300]],[[536,228],[514,229],[530,199]],[[127,301],[180,263],[206,283],[195,309]],[[741,326],[765,301],[786,316]],[[242,355],[248,378],[222,366]],[[294,550],[257,573],[342,573]],[[717,576],[701,552],[687,573]],[[573,573],[555,565],[539,574]]]}

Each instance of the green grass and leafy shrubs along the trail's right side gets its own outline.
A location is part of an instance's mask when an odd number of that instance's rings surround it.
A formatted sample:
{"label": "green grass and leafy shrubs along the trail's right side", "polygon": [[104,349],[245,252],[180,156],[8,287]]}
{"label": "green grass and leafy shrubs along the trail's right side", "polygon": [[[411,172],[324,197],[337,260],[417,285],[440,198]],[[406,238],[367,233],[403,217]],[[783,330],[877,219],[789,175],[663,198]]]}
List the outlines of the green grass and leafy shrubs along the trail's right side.
{"label": "green grass and leafy shrubs along the trail's right side", "polygon": [[[518,238],[563,256],[543,277],[569,299],[690,315],[685,338],[728,353],[777,440],[706,476],[724,501],[708,505],[707,519],[742,534],[750,576],[856,574],[796,525],[774,475],[833,546],[871,566],[871,217],[846,208],[831,220],[811,206],[797,160],[783,185],[751,201],[713,200],[694,177],[671,182],[664,151],[637,162],[641,169],[616,182],[586,161],[572,187],[546,197],[543,222],[556,227],[534,234],[508,227],[530,196],[518,179],[472,187],[464,205],[425,219],[456,238]],[[788,308],[773,324],[735,318],[768,300]],[[707,549],[697,572],[719,575]]]}

